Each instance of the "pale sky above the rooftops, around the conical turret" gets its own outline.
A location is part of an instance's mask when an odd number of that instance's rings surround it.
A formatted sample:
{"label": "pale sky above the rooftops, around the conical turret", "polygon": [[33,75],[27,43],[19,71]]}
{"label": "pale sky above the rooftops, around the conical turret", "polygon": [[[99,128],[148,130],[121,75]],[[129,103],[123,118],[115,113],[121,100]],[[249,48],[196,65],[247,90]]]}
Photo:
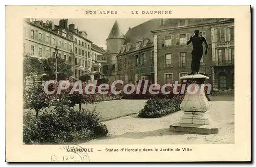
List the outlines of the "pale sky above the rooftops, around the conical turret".
{"label": "pale sky above the rooftops, around the conical turret", "polygon": [[[37,20],[52,20],[55,25],[59,25],[59,20],[62,18],[58,19],[44,19],[44,18],[39,18]],[[65,18],[66,19],[66,18]],[[117,20],[119,29],[120,31],[125,34],[128,30],[129,27],[133,28],[141,23],[150,20],[148,18],[121,18],[121,19],[83,19],[83,18],[68,18],[69,19],[69,24],[74,23],[75,27],[78,27],[79,31],[85,30],[88,34],[87,38],[93,41],[95,44],[97,44],[100,47],[103,47],[106,49],[106,38],[108,38],[109,33],[114,25],[115,20]]]}

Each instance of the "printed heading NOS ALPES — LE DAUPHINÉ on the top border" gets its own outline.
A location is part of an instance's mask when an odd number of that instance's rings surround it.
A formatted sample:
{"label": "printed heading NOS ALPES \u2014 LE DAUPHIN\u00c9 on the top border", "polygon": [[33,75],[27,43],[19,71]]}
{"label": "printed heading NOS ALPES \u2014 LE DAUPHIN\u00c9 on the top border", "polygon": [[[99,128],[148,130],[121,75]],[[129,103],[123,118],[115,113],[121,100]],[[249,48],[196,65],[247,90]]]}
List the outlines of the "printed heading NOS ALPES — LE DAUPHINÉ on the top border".
{"label": "printed heading NOS ALPES \u2014 LE DAUPHIN\u00c9 on the top border", "polygon": [[85,11],[85,14],[172,14],[171,10],[141,10],[141,11],[130,11],[130,12],[124,12],[124,11],[109,11],[109,10],[87,10]]}

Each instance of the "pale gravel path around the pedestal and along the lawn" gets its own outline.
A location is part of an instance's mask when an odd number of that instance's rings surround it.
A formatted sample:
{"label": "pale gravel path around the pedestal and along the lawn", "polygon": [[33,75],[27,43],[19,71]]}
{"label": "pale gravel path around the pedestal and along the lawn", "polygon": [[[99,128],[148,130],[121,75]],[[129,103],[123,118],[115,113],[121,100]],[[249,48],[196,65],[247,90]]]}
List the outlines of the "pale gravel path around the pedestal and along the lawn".
{"label": "pale gravel path around the pedestal and along the lawn", "polygon": [[[125,101],[126,102],[126,101]],[[133,103],[133,102],[131,102]],[[211,101],[209,115],[217,122],[218,134],[185,134],[169,130],[182,111],[161,118],[139,118],[137,114],[106,121],[109,136],[87,144],[234,144],[234,102]],[[116,107],[116,106],[115,106]],[[125,108],[120,108],[125,110]]]}

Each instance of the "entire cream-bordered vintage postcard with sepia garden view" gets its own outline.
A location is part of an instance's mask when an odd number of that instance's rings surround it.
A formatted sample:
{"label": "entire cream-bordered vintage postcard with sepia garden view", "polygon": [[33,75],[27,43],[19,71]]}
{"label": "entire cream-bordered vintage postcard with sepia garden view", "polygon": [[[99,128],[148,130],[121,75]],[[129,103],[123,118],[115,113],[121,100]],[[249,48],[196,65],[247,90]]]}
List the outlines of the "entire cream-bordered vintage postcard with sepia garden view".
{"label": "entire cream-bordered vintage postcard with sepia garden view", "polygon": [[6,6],[6,161],[251,161],[250,20],[250,6]]}

